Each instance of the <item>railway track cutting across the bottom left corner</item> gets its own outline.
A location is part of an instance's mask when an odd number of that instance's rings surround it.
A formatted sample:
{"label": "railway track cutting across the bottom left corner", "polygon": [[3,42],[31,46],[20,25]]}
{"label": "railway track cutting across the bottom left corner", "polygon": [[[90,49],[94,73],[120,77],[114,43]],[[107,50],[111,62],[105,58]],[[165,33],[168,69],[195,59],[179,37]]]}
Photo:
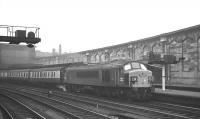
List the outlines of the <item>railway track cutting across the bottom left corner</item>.
{"label": "railway track cutting across the bottom left corner", "polygon": [[10,96],[1,94],[0,101],[10,119],[46,119],[35,110]]}

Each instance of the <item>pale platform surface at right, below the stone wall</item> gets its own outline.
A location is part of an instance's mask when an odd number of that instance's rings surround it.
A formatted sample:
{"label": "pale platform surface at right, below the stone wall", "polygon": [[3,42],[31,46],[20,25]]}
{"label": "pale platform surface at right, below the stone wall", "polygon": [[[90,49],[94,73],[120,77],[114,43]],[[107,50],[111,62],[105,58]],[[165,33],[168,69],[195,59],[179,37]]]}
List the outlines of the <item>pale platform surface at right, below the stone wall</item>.
{"label": "pale platform surface at right, below the stone wall", "polygon": [[186,90],[175,90],[175,89],[162,90],[162,88],[155,88],[155,93],[170,95],[170,96],[184,96],[184,97],[191,97],[191,98],[200,98],[199,91],[186,91]]}

